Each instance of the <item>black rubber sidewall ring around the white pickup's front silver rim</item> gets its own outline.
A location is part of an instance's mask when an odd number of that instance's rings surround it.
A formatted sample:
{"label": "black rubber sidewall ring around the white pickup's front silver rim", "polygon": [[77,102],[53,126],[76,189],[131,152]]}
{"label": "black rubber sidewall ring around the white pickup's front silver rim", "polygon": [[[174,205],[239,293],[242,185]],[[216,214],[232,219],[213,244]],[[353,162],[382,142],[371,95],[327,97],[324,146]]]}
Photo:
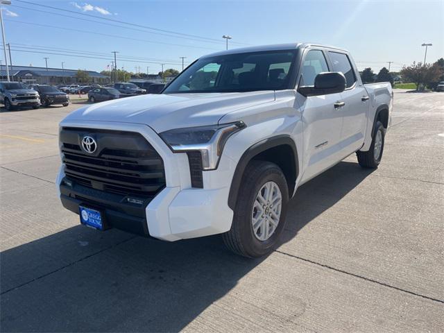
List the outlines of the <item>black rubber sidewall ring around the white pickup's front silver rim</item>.
{"label": "black rubber sidewall ring around the white pickup's front silver rim", "polygon": [[[259,171],[259,177],[255,182],[247,181],[241,189],[240,199],[237,203],[236,211],[234,212],[234,222],[239,223],[239,234],[241,243],[244,246],[245,252],[250,257],[261,257],[271,252],[278,244],[282,230],[284,230],[286,222],[287,205],[289,201],[288,186],[285,177],[280,168],[271,162],[262,162]],[[259,165],[259,164],[258,164]],[[248,170],[246,170],[248,172]],[[247,173],[248,174],[248,173]],[[247,178],[248,179],[248,178]],[[257,193],[262,186],[269,181],[275,182],[282,194],[281,215],[275,232],[266,241],[259,241],[255,237],[252,225],[253,203],[255,202]]]}

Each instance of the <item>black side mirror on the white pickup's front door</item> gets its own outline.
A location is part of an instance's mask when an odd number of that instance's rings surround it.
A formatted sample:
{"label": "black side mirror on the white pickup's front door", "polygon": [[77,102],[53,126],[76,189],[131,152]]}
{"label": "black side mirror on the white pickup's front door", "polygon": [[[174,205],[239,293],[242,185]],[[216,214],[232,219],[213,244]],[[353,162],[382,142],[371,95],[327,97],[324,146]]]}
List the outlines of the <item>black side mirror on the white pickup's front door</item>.
{"label": "black side mirror on the white pickup's front door", "polygon": [[298,92],[305,96],[319,96],[343,92],[346,87],[344,74],[339,71],[320,73],[314,78],[314,86],[303,86]]}

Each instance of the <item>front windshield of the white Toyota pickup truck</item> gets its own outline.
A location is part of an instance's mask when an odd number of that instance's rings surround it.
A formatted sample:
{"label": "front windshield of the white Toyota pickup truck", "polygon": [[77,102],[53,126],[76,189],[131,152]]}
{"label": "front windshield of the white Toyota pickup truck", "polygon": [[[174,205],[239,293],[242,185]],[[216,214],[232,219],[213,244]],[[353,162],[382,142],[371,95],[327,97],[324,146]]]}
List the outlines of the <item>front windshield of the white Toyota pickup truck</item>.
{"label": "front windshield of the white Toyota pickup truck", "polygon": [[199,59],[162,94],[289,89],[296,50],[235,53]]}

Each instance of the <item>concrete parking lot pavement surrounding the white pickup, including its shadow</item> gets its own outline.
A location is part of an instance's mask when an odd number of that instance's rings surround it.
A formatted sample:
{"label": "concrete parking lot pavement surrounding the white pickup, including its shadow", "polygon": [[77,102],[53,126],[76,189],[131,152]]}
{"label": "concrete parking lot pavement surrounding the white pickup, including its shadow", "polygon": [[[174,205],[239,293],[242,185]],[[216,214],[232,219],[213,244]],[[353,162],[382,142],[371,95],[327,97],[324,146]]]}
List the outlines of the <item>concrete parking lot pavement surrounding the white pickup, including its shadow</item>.
{"label": "concrete parking lot pavement surrounding the white pickup, including its shadow", "polygon": [[79,225],[54,185],[79,106],[0,112],[2,332],[444,331],[444,93],[396,90],[379,169],[302,186],[255,260]]}

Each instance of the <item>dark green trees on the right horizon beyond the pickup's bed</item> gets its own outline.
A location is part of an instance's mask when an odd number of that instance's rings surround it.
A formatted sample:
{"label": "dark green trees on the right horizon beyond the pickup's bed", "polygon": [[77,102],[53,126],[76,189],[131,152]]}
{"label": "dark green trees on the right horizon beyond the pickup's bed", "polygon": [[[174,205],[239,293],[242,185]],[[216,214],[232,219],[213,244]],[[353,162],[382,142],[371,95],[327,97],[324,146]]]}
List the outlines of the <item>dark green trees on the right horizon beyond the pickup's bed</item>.
{"label": "dark green trees on the right horizon beyond the pickup's bed", "polygon": [[[436,60],[433,64],[413,62],[410,66],[402,67],[399,72],[404,83],[414,83],[416,90],[436,89],[440,81],[444,80],[444,58]],[[382,67],[377,76],[370,67],[361,71],[363,83],[390,82],[393,85],[393,76],[386,67]]]}

